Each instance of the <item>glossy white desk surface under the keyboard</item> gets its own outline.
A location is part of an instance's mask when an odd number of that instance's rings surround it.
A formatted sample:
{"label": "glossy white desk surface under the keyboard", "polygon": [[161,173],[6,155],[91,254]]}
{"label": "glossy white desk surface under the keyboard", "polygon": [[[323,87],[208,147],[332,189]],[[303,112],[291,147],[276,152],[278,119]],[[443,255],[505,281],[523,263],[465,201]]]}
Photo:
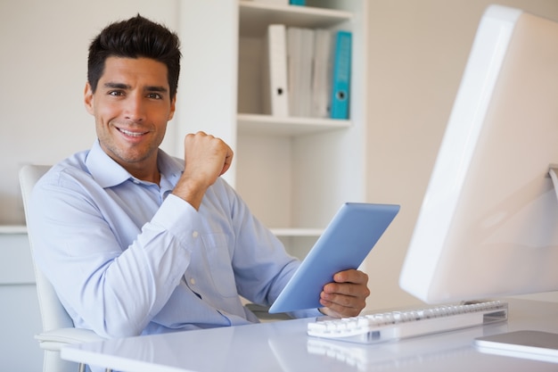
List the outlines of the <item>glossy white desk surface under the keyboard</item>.
{"label": "glossy white desk surface under the keyboard", "polygon": [[285,320],[72,345],[62,359],[127,372],[558,371],[558,363],[482,353],[481,335],[532,329],[558,333],[558,303],[509,300],[507,323],[397,343],[360,345],[306,335],[312,319]]}

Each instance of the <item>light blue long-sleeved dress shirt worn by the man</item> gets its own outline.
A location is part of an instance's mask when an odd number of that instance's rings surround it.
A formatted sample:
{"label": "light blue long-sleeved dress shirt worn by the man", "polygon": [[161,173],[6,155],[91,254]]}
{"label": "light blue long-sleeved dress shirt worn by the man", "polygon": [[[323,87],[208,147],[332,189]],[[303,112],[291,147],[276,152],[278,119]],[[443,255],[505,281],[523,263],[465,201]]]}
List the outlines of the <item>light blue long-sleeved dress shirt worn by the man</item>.
{"label": "light blue long-sleeved dress shirt worn by the man", "polygon": [[158,166],[160,186],[132,177],[95,142],[33,190],[37,265],[75,326],[122,337],[257,322],[239,294],[273,303],[300,261],[222,178],[196,211],[171,194],[184,161],[160,150]]}

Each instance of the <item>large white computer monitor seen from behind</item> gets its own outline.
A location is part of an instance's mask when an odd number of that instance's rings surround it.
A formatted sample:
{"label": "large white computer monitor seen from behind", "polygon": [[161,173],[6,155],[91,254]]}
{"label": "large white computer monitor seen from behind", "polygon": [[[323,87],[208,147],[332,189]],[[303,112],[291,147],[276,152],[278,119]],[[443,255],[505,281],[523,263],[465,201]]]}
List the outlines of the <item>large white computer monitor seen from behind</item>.
{"label": "large white computer monitor seen from behind", "polygon": [[483,14],[399,285],[427,303],[558,290],[558,23]]}

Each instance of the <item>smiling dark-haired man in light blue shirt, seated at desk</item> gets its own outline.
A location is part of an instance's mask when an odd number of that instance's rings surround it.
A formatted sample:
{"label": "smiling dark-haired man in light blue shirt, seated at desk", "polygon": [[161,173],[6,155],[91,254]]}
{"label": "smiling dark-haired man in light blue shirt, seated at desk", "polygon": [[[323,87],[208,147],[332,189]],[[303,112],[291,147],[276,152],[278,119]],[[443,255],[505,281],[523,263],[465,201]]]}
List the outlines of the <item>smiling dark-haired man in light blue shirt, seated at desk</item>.
{"label": "smiling dark-haired man in light blue shirt, seated at desk", "polygon": [[[94,38],[84,101],[98,138],[54,165],[29,203],[37,264],[75,326],[105,337],[256,322],[239,294],[269,305],[300,264],[219,177],[228,145],[200,132],[185,136],[184,161],[159,149],[178,44],[139,15]],[[336,274],[320,311],[357,315],[366,282],[355,269]]]}

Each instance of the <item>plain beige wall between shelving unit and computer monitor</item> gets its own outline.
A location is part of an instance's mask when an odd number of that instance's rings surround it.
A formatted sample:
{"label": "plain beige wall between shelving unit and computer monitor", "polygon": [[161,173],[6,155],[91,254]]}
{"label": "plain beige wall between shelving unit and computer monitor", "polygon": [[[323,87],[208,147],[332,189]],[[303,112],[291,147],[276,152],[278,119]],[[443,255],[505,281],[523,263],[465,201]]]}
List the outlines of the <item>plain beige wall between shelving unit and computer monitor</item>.
{"label": "plain beige wall between shelving unit and computer monitor", "polygon": [[[418,303],[398,276],[439,143],[488,0],[372,0],[369,5],[367,200],[399,203],[366,262],[368,307]],[[558,20],[556,0],[502,0]],[[545,299],[558,301],[558,293]]]}

